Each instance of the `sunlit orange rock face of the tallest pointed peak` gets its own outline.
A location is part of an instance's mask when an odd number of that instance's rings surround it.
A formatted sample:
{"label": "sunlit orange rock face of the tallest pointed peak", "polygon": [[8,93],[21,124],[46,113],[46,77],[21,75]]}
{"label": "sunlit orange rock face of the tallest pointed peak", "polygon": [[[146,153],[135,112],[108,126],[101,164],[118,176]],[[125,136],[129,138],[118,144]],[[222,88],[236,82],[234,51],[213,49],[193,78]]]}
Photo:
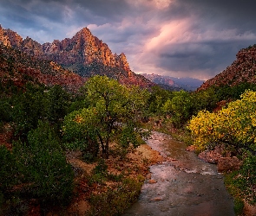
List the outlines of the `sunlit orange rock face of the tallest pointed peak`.
{"label": "sunlit orange rock face of the tallest pointed peak", "polygon": [[44,58],[50,58],[66,66],[74,64],[87,66],[97,62],[108,67],[130,70],[124,54],[112,54],[108,45],[92,35],[87,28],[77,32],[71,39],[44,43],[42,50]]}

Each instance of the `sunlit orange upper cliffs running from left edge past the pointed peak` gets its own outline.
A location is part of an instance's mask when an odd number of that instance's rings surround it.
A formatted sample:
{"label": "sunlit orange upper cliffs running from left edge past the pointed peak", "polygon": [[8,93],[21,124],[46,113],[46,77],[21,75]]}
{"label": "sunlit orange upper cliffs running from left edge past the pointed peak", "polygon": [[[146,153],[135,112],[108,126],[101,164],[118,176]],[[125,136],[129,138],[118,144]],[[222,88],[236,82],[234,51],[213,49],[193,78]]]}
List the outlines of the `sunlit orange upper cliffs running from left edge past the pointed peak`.
{"label": "sunlit orange upper cliffs running from left edge past the pointed peak", "polygon": [[64,66],[73,64],[86,66],[98,62],[104,66],[120,67],[130,71],[125,54],[112,54],[108,45],[92,35],[88,28],[80,30],[71,39],[54,40],[41,45],[30,37],[23,40],[16,32],[0,26],[0,41],[5,46],[19,48],[36,58],[55,60]]}

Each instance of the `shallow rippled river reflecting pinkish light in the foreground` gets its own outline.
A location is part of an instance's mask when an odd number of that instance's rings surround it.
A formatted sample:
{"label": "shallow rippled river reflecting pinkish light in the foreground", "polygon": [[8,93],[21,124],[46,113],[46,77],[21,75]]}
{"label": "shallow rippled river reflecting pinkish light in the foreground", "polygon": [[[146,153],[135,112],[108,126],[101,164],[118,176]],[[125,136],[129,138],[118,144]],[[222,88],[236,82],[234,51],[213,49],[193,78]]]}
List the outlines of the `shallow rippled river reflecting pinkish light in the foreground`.
{"label": "shallow rippled river reflecting pinkish light in the foreground", "polygon": [[150,167],[151,179],[141,188],[139,200],[122,216],[232,216],[233,198],[223,175],[213,164],[200,161],[186,144],[153,132],[148,145],[167,157]]}

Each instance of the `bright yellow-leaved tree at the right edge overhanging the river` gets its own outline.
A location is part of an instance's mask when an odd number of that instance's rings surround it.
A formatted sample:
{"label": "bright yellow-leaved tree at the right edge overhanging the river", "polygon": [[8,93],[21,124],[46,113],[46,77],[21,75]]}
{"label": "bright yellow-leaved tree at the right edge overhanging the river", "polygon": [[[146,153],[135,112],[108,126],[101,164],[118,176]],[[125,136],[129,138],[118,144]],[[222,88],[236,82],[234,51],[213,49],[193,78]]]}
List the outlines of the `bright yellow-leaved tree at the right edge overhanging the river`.
{"label": "bright yellow-leaved tree at the right edge overhanging the river", "polygon": [[236,149],[256,150],[256,92],[246,91],[241,98],[218,112],[200,111],[188,124],[200,149],[220,143]]}

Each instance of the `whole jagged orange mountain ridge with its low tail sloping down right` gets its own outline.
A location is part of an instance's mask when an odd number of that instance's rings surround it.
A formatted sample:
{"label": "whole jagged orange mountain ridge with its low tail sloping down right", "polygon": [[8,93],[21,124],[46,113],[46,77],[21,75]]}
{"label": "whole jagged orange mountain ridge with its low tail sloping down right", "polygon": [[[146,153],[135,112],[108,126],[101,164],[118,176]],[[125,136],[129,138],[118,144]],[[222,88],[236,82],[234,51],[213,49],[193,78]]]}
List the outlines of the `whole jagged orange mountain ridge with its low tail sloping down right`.
{"label": "whole jagged orange mountain ridge with its low tail sloping down right", "polygon": [[149,87],[154,84],[140,74],[132,72],[125,54],[112,54],[108,45],[91,34],[88,28],[77,32],[71,39],[40,44],[30,37],[23,39],[0,25],[0,41],[39,60],[51,60],[81,75],[95,74],[118,79],[121,84]]}

